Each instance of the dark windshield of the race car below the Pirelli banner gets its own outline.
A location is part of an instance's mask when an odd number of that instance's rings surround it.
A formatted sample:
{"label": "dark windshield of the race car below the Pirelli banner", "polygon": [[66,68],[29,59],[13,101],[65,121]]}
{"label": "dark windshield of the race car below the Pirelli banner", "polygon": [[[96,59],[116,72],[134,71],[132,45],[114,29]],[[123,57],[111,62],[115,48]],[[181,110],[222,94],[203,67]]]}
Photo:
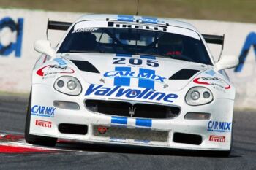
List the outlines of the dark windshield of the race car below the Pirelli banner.
{"label": "dark windshield of the race car below the Pirelli banner", "polygon": [[156,55],[212,64],[200,39],[135,28],[72,28],[57,53]]}

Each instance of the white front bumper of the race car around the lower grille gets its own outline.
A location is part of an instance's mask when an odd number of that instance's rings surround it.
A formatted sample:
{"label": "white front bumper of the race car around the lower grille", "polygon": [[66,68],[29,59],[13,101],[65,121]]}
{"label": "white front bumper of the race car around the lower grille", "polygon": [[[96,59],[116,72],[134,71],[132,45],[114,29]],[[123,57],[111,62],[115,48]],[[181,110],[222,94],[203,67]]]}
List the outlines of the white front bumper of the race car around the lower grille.
{"label": "white front bumper of the race car around the lower grille", "polygon": [[[188,106],[184,101],[179,104],[181,107],[181,113],[178,117],[173,119],[136,119],[135,117],[118,117],[111,115],[96,114],[86,109],[84,105],[84,96],[67,96],[62,93],[58,93],[55,90],[50,90],[50,86],[47,85],[33,85],[31,107],[34,105],[54,107],[53,101],[72,101],[79,104],[79,110],[60,109],[54,110],[52,117],[42,117],[40,115],[31,115],[30,134],[39,136],[51,136],[61,139],[74,139],[81,142],[101,142],[112,144],[130,144],[140,146],[151,147],[168,147],[176,149],[188,149],[188,150],[230,150],[231,147],[231,130],[230,131],[209,131],[208,123],[211,121],[211,125],[214,122],[226,122],[232,123],[233,121],[233,100],[228,99],[215,99],[211,104],[192,107]],[[47,94],[45,92],[47,91]],[[186,120],[184,115],[187,112],[206,112],[211,114],[210,120]],[[117,121],[116,121],[116,120]],[[38,120],[50,122],[50,127],[47,125],[38,125]],[[114,120],[114,121],[113,121]],[[140,123],[138,123],[138,121]],[[63,123],[86,125],[86,134],[66,134],[59,131],[59,125]],[[120,128],[118,131],[118,137],[115,133],[110,135],[95,134],[97,127]],[[123,129],[123,130],[122,130]],[[125,129],[125,130],[124,130]],[[127,130],[128,129],[128,130]],[[146,136],[145,133],[151,132],[155,135],[155,138],[138,137],[133,134],[129,134],[129,129],[134,131],[138,129],[137,136]],[[132,130],[133,129],[133,130]],[[141,130],[141,131],[140,131]],[[121,131],[121,132],[120,132]],[[124,133],[120,137],[121,133]],[[154,132],[156,132],[154,134]],[[157,133],[159,132],[159,133]],[[132,133],[132,132],[131,132]],[[179,134],[192,134],[200,136],[202,142],[200,144],[187,144],[186,142],[176,142],[174,136]],[[157,139],[157,135],[166,134],[166,140]],[[211,136],[225,136],[225,140],[210,140]],[[186,137],[185,137],[186,138]],[[186,141],[186,139],[184,139]]]}

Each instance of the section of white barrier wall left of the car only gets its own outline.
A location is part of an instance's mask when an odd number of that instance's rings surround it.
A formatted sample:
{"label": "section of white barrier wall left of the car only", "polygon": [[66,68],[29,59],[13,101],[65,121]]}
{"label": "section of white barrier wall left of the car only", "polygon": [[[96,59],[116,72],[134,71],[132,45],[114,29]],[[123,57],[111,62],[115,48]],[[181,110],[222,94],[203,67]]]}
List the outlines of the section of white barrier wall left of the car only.
{"label": "section of white barrier wall left of the car only", "polygon": [[[72,22],[79,15],[68,12],[0,9],[0,90],[18,93],[29,92],[31,69],[39,57],[39,53],[34,51],[34,41],[46,39],[48,18]],[[23,22],[18,23],[18,20],[23,20]],[[20,30],[11,30],[10,26],[12,27],[12,25],[16,25]],[[21,40],[17,34],[22,36]],[[62,34],[63,31],[49,31],[53,46],[61,39]],[[4,50],[4,47],[7,47],[11,53]],[[17,55],[16,52],[19,48],[21,49],[20,55]]]}

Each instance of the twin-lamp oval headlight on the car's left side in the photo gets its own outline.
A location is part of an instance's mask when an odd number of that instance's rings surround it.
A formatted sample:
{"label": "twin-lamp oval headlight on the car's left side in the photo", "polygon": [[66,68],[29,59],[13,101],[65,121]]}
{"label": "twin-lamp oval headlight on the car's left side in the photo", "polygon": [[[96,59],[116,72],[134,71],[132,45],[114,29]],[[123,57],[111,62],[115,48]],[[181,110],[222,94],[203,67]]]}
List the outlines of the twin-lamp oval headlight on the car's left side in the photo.
{"label": "twin-lamp oval headlight on the car's left side in the photo", "polygon": [[82,92],[82,86],[77,78],[71,76],[59,77],[54,82],[55,90],[71,96],[78,96]]}

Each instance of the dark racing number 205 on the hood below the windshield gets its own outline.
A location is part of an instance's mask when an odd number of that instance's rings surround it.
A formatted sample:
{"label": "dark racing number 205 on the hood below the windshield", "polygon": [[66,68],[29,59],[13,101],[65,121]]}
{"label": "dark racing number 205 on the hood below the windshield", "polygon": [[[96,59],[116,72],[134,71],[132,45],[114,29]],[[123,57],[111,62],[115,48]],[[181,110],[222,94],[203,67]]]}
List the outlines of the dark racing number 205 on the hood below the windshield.
{"label": "dark racing number 205 on the hood below the windshield", "polygon": [[[127,58],[113,58],[113,64],[125,64]],[[129,58],[129,64],[132,65],[141,65],[143,63],[143,60],[140,58]],[[158,67],[159,63],[155,60],[147,60],[146,64],[148,66]]]}

